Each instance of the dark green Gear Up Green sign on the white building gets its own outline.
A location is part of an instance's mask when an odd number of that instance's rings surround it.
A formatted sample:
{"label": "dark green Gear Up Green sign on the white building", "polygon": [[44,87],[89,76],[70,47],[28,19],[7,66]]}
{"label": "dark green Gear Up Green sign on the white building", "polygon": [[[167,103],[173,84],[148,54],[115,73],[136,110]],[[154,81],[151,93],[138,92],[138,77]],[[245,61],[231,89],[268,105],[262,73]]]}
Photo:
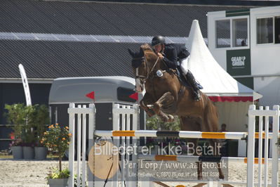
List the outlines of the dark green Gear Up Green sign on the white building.
{"label": "dark green Gear Up Green sign on the white building", "polygon": [[251,75],[250,49],[227,50],[227,72],[229,75]]}

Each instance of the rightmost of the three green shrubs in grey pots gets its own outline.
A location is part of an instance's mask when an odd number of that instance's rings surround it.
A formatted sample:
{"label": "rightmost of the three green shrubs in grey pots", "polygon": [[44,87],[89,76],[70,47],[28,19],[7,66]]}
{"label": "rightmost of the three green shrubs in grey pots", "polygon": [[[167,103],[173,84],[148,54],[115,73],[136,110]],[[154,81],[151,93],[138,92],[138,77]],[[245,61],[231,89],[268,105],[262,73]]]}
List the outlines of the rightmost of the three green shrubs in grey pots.
{"label": "rightmost of the three green shrubs in grey pots", "polygon": [[46,131],[46,124],[50,122],[48,108],[46,105],[36,105],[36,110],[32,115],[32,123],[35,127],[36,143],[34,147],[35,159],[45,160],[48,154],[48,148],[41,141]]}

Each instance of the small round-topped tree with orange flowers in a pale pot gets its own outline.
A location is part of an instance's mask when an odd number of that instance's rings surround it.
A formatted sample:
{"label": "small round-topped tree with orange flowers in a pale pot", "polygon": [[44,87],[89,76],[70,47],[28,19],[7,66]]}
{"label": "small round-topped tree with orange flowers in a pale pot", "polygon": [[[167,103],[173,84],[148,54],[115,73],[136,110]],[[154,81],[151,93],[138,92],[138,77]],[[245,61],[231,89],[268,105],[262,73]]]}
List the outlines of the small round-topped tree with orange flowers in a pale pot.
{"label": "small round-topped tree with orange flowers in a pale pot", "polygon": [[41,143],[45,143],[50,150],[57,153],[59,160],[58,169],[55,169],[47,176],[49,186],[53,186],[53,183],[57,186],[58,182],[60,183],[59,186],[67,186],[69,170],[62,170],[61,160],[65,150],[69,147],[71,135],[72,134],[69,134],[68,127],[60,127],[58,124],[50,125],[48,131],[44,132]]}

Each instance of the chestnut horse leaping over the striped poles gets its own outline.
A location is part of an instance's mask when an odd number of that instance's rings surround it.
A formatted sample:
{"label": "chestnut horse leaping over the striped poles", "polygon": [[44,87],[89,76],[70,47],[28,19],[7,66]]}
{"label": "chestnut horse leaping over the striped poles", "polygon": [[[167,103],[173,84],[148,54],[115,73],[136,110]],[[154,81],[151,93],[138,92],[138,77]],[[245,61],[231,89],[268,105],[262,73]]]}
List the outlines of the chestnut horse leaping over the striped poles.
{"label": "chestnut horse leaping over the striped poles", "polygon": [[[145,86],[140,106],[149,116],[156,114],[164,122],[172,122],[173,115],[178,115],[183,131],[218,131],[218,113],[206,94],[201,93],[201,100],[194,101],[190,88],[182,86],[175,70],[168,69],[148,44],[142,45],[139,52],[128,51],[133,57],[136,91],[142,92]],[[191,141],[197,145],[198,139]],[[209,141],[214,148],[217,139]],[[198,165],[198,179],[202,179],[201,162]],[[218,170],[223,179],[220,162]]]}

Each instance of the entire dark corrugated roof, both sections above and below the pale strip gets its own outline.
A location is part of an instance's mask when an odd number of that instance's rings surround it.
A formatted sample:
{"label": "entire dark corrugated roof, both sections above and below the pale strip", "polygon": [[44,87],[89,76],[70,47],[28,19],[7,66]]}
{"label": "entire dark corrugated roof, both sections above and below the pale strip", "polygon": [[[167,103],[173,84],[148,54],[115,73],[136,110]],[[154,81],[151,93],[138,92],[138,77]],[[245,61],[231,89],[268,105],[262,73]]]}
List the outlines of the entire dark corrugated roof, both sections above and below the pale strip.
{"label": "entire dark corrugated roof, both sections above and below the pale strip", "polygon": [[[207,37],[208,11],[241,6],[133,4],[85,1],[0,1],[0,35],[6,33],[83,34],[85,36],[187,37],[199,20]],[[248,7],[246,7],[248,8]],[[128,76],[127,49],[138,43],[0,39],[0,78],[20,78],[22,63],[28,78]]]}

